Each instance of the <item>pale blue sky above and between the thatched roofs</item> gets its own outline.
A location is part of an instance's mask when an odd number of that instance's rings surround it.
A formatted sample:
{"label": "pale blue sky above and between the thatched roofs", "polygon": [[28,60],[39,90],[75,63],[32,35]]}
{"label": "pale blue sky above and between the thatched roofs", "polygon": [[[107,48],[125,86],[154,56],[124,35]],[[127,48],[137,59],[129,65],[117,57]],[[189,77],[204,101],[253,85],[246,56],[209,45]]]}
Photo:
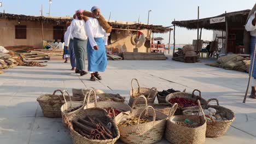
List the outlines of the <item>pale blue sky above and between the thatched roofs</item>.
{"label": "pale blue sky above and between the thatched roofs", "polygon": [[[251,9],[255,0],[52,0],[51,16],[73,15],[76,9],[86,9],[94,5],[101,8],[101,13],[108,19],[110,11],[111,19],[118,21],[140,21],[147,23],[148,10],[150,12],[149,24],[171,26],[173,19],[191,20],[197,19],[197,6],[200,7],[200,18],[216,16],[227,12]],[[3,7],[0,11],[13,14],[39,15],[41,4],[43,4],[43,15],[49,11],[49,0],[0,0]],[[189,31],[185,28],[177,28],[176,43],[188,44],[196,39],[197,31]],[[172,33],[173,35],[173,33]],[[168,43],[168,33],[154,34],[154,37],[165,38],[164,43]],[[173,37],[171,36],[171,43]],[[212,31],[202,31],[203,40],[212,39]]]}

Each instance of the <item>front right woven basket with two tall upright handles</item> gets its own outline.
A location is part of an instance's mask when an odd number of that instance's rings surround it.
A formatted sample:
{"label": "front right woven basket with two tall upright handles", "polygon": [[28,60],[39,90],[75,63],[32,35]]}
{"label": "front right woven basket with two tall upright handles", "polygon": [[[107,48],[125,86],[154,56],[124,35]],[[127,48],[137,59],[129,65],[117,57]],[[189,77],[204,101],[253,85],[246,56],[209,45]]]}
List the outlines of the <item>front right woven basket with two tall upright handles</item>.
{"label": "front right woven basket with two tall upright handles", "polygon": [[[174,104],[174,110],[171,110],[167,119],[167,126],[165,137],[166,140],[171,143],[189,143],[189,144],[201,144],[205,143],[205,134],[206,134],[206,118],[203,113],[202,107],[199,103],[199,111],[203,116],[195,115],[182,115],[182,116],[173,116],[175,110],[177,110],[178,104]],[[188,118],[192,122],[199,123],[199,127],[188,128],[183,125],[177,124],[177,122],[183,122]]]}

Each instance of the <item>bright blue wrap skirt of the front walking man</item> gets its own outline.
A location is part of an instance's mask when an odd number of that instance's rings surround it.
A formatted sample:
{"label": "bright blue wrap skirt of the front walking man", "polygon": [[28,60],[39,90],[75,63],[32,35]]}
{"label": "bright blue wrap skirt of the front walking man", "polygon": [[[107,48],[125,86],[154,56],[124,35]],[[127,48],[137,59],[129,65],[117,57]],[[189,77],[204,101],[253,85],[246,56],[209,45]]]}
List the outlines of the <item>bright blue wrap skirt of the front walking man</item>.
{"label": "bright blue wrap skirt of the front walking man", "polygon": [[89,39],[87,43],[88,71],[105,71],[107,55],[103,38],[94,39],[98,45],[98,50],[92,49]]}

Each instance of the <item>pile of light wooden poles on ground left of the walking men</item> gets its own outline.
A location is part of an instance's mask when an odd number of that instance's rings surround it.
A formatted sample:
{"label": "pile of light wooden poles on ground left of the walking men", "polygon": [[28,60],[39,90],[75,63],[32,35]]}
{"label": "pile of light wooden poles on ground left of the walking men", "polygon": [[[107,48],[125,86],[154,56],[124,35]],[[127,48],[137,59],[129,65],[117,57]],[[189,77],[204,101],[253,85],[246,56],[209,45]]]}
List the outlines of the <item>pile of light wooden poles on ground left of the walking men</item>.
{"label": "pile of light wooden poles on ground left of the walking men", "polygon": [[26,60],[61,60],[63,56],[62,49],[35,49],[28,51],[27,53],[22,53]]}

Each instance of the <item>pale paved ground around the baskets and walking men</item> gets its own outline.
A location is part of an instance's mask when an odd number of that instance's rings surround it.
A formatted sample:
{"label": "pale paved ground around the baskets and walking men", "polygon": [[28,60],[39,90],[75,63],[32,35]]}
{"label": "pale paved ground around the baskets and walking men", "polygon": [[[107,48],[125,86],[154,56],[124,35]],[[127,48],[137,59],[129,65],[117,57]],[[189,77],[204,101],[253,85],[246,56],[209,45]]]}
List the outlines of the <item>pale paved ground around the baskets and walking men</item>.
{"label": "pale paved ground around the baskets and walking men", "polygon": [[[15,67],[0,75],[0,143],[72,143],[60,118],[45,118],[36,99],[55,89],[95,87],[119,93],[129,101],[131,79],[142,87],[200,89],[205,99],[218,98],[232,109],[236,120],[228,133],[206,143],[256,143],[256,100],[243,104],[248,74],[204,65],[167,61],[109,61],[103,80],[91,82],[71,73],[69,63],[48,62],[47,67]],[[121,143],[121,142],[118,142]],[[159,143],[167,143],[162,140]]]}

